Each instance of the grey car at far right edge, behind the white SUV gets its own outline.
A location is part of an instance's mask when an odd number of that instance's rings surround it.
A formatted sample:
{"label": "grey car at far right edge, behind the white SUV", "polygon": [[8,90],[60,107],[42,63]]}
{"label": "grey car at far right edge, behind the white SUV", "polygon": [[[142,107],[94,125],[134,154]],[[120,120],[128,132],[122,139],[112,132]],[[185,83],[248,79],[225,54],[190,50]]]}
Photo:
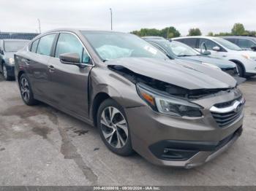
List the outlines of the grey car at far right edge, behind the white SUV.
{"label": "grey car at far right edge, behind the white SUV", "polygon": [[222,39],[226,39],[229,42],[232,42],[238,47],[241,47],[244,50],[253,50],[256,51],[256,37],[251,36],[221,36]]}

